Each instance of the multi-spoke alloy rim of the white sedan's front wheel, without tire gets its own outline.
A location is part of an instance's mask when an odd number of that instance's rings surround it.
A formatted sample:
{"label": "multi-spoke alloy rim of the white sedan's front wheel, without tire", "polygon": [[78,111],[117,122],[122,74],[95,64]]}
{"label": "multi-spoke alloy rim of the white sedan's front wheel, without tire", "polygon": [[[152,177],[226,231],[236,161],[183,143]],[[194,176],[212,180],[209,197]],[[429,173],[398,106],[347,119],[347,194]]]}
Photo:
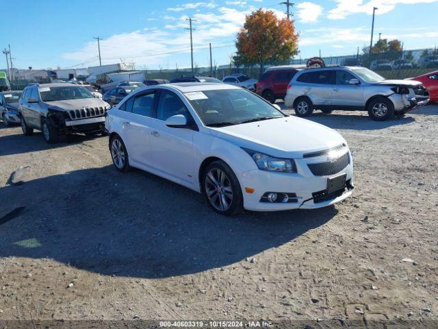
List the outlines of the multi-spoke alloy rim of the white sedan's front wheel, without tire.
{"label": "multi-spoke alloy rim of the white sedan's front wheel, without tire", "polygon": [[214,168],[205,177],[205,192],[211,206],[217,210],[227,211],[233,202],[231,182],[224,171]]}

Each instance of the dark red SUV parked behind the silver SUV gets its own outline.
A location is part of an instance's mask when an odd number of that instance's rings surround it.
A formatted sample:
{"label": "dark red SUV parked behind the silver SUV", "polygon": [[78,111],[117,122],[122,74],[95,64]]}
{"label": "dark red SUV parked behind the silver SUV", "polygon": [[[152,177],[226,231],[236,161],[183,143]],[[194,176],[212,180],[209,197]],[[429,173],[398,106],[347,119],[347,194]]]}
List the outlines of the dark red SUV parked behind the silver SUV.
{"label": "dark red SUV parked behind the silver SUV", "polygon": [[256,93],[271,103],[275,103],[277,99],[284,99],[287,85],[297,72],[298,69],[291,66],[274,66],[267,69],[255,84]]}

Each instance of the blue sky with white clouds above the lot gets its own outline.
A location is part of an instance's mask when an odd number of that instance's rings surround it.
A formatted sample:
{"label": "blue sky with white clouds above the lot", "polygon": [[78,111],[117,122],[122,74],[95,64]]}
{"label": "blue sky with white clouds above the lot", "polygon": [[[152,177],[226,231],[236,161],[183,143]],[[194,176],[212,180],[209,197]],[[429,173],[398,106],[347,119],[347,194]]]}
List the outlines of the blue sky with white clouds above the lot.
{"label": "blue sky with white clouds above the lot", "polygon": [[[10,45],[14,67],[56,69],[134,62],[136,69],[190,67],[190,16],[194,62],[229,64],[245,16],[258,8],[285,17],[283,0],[0,0],[0,48]],[[438,46],[438,0],[292,0],[296,58],[348,55],[375,39],[398,38],[404,49]],[[0,55],[3,56],[2,53]],[[0,56],[0,68],[6,67]]]}

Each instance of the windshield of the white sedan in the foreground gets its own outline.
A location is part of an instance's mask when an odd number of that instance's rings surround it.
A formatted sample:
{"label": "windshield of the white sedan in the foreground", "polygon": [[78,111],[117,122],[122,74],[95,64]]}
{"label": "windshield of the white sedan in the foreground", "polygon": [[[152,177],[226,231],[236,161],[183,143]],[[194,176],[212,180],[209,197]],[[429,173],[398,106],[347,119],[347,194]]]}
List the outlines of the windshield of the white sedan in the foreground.
{"label": "windshield of the white sedan in the foreground", "polygon": [[272,105],[244,89],[185,93],[203,123],[211,127],[285,117]]}

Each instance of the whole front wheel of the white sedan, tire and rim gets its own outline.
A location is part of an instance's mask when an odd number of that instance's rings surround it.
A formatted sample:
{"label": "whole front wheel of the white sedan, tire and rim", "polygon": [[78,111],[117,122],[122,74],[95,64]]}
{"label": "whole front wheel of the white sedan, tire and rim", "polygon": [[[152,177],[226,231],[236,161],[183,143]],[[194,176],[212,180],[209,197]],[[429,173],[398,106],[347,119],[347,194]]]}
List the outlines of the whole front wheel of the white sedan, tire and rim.
{"label": "whole front wheel of the white sedan, tire and rim", "polygon": [[201,183],[207,204],[218,214],[232,216],[244,210],[239,180],[225,162],[211,162],[203,172]]}

